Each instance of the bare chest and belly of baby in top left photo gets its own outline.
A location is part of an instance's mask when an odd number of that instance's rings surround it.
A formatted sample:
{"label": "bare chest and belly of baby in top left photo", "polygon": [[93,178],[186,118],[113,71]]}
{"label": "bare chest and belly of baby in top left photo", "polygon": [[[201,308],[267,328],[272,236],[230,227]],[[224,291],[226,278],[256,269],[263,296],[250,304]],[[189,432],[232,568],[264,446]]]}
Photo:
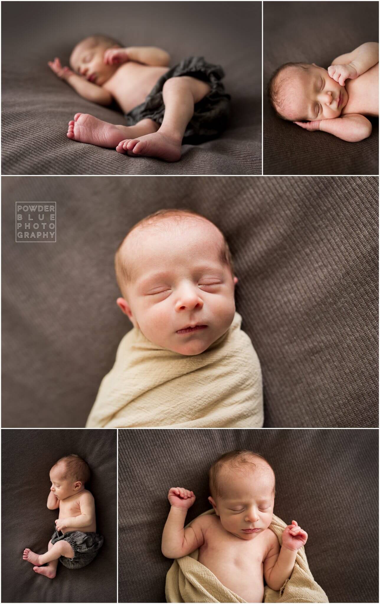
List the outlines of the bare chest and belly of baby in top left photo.
{"label": "bare chest and belly of baby in top left photo", "polygon": [[125,114],[144,102],[153,86],[169,67],[155,67],[128,61],[117,69],[103,88],[111,92]]}

